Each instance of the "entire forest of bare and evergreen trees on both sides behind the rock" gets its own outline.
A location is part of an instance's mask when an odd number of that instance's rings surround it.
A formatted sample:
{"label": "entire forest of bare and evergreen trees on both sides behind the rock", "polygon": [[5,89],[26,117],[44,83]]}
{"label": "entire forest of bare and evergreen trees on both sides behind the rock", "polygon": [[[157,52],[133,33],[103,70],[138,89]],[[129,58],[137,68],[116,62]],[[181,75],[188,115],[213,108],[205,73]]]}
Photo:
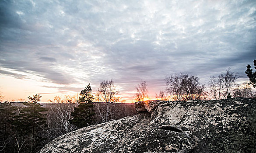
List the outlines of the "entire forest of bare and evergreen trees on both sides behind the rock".
{"label": "entire forest of bare and evergreen trees on both sides behind the rock", "polygon": [[[254,66],[256,69],[256,60]],[[230,69],[212,76],[208,82],[208,91],[196,76],[173,74],[165,78],[166,90],[160,91],[155,98],[168,101],[256,98],[256,72],[252,72],[248,65],[245,73],[250,82],[240,85],[236,83],[238,74]],[[135,90],[135,101],[147,98],[146,81],[141,81]],[[124,103],[117,97],[118,92],[113,80],[104,80],[95,95],[89,83],[81,90],[75,103],[70,96],[64,99],[56,96],[42,105],[42,96],[39,94],[29,96],[28,102],[0,103],[0,152],[36,153],[54,138],[68,132],[135,115],[137,112],[133,104]]]}

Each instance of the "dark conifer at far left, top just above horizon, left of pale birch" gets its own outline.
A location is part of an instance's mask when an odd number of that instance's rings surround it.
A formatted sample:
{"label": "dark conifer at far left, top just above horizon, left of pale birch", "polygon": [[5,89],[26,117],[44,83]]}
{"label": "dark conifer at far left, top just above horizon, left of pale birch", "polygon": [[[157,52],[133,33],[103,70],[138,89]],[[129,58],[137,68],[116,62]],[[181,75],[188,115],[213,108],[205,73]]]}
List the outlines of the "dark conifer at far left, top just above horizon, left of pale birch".
{"label": "dark conifer at far left, top just above horizon, left of pale birch", "polygon": [[24,144],[26,146],[24,152],[37,152],[46,140],[46,135],[44,135],[47,128],[46,114],[43,114],[46,109],[39,104],[41,97],[39,94],[29,96],[30,101],[24,103],[26,107],[21,110],[14,124],[17,127],[15,132],[20,138],[20,144],[17,146],[20,150],[21,144]]}

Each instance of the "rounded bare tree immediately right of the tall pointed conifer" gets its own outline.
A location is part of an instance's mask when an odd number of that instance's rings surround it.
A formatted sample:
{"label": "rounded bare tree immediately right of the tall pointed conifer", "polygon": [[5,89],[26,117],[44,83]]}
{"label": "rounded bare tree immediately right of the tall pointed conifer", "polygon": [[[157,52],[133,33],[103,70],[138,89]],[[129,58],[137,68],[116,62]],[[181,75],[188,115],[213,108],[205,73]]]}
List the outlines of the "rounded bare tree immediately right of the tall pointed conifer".
{"label": "rounded bare tree immediately right of the tall pointed conifer", "polygon": [[102,104],[96,103],[95,108],[97,109],[97,114],[102,119],[102,122],[109,121],[113,108],[113,105],[109,103],[118,102],[118,97],[116,97],[118,93],[119,91],[116,89],[113,80],[104,80],[100,83],[95,99]]}

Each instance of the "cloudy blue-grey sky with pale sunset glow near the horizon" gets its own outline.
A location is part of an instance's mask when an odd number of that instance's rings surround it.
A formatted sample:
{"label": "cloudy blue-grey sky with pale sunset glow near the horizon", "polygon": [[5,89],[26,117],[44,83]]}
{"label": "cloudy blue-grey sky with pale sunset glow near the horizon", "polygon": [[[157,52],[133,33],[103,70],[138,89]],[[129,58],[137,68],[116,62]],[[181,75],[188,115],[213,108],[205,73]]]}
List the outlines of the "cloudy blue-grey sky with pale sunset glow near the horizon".
{"label": "cloudy blue-grey sky with pale sunset glow near the horizon", "polygon": [[0,92],[42,101],[111,80],[132,101],[188,73],[207,84],[256,59],[255,0],[1,0]]}

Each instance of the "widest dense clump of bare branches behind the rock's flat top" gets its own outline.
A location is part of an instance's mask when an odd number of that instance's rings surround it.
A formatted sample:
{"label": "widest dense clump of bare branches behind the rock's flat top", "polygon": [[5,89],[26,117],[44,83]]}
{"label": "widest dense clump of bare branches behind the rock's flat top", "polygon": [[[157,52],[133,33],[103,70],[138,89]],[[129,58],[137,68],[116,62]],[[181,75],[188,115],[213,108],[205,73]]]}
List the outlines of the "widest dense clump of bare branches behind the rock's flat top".
{"label": "widest dense clump of bare branches behind the rock's flat top", "polygon": [[175,101],[202,100],[206,92],[199,78],[188,74],[173,75],[165,78],[166,91]]}

